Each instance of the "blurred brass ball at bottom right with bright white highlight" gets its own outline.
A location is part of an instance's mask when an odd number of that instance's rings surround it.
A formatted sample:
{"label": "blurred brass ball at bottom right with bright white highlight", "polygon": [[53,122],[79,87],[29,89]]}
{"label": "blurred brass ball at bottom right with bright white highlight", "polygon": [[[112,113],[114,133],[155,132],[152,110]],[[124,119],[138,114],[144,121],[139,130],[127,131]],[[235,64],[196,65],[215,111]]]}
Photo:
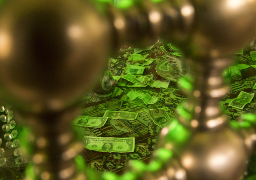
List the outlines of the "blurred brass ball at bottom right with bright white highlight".
{"label": "blurred brass ball at bottom right with bright white highlight", "polygon": [[226,128],[196,133],[181,156],[188,179],[238,180],[246,166],[242,138]]}

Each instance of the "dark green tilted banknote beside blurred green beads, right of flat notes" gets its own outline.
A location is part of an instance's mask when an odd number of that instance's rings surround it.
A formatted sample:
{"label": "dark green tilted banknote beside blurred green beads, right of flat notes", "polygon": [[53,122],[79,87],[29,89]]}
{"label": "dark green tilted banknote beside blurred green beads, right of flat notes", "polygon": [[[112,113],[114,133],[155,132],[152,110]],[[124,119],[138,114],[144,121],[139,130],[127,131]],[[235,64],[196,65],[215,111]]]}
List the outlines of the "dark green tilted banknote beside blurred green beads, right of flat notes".
{"label": "dark green tilted banknote beside blurred green beads, right of flat notes", "polygon": [[150,109],[149,115],[153,122],[161,128],[172,120],[164,109]]}

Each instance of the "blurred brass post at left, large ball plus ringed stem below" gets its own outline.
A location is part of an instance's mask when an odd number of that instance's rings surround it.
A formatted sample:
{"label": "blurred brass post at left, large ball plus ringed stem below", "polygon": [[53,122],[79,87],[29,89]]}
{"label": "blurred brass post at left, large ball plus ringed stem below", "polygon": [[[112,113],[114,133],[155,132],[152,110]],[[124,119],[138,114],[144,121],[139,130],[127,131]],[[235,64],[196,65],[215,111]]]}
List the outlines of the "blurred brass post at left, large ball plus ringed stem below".
{"label": "blurred brass post at left, large ball plus ringed stem below", "polygon": [[30,175],[85,179],[70,122],[107,64],[110,25],[85,1],[8,1],[0,9],[0,99],[32,130]]}

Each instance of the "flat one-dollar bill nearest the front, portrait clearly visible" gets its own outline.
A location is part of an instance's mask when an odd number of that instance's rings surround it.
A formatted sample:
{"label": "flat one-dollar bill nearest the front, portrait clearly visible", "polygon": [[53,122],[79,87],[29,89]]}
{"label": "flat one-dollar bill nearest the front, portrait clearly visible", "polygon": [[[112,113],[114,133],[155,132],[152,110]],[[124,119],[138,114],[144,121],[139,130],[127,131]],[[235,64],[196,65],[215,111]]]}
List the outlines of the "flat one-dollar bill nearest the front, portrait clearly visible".
{"label": "flat one-dollar bill nearest the front, portrait clearly visible", "polygon": [[100,152],[134,152],[135,137],[91,137],[83,139],[85,148]]}

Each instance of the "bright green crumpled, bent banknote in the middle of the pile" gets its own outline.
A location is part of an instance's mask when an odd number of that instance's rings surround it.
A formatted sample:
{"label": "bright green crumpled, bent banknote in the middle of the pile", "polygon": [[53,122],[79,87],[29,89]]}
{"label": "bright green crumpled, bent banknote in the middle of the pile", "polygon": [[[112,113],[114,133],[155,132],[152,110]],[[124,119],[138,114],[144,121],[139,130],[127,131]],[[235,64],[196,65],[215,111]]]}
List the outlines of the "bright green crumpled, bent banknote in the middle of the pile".
{"label": "bright green crumpled, bent banknote in the middle of the pile", "polygon": [[155,104],[159,99],[159,97],[151,97],[148,93],[143,93],[142,91],[130,91],[127,93],[127,96],[131,101],[139,98],[143,100],[145,104]]}

